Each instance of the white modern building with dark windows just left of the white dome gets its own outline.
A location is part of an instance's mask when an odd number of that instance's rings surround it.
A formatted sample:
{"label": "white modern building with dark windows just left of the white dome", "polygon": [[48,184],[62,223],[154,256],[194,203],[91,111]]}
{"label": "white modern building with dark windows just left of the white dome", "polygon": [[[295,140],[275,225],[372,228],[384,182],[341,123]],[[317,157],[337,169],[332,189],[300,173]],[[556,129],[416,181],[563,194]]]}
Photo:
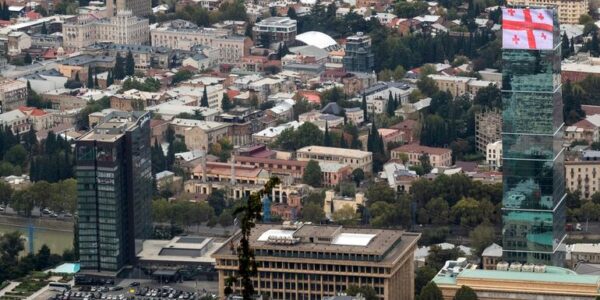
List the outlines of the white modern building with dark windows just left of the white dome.
{"label": "white modern building with dark windows just left of the white dome", "polygon": [[[254,24],[252,39],[257,43],[289,43],[296,40],[297,22],[288,17],[270,17]],[[269,48],[269,45],[262,45]]]}

